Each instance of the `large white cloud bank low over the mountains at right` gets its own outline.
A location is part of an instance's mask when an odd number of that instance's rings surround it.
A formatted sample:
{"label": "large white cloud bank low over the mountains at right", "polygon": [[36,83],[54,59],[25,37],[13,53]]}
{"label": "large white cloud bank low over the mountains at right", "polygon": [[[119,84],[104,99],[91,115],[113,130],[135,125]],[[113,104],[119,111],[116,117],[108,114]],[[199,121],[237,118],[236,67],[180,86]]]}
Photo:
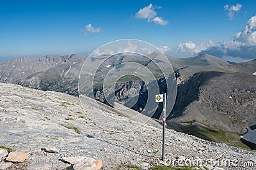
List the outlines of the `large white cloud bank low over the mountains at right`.
{"label": "large white cloud bank low over the mountains at right", "polygon": [[212,40],[208,43],[188,41],[180,43],[175,52],[179,55],[187,55],[189,53],[192,56],[208,53],[235,62],[255,59],[256,15],[251,17],[246,27],[241,32],[235,34],[230,41],[223,41],[221,43],[214,43]]}

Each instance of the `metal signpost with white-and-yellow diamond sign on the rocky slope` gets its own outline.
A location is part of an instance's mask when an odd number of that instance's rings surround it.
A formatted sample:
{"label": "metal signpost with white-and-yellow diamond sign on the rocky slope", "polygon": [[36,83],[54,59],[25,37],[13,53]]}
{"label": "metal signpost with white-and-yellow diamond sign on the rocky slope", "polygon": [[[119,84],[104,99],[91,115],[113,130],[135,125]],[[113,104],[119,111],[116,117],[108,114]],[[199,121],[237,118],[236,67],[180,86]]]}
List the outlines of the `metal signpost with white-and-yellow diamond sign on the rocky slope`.
{"label": "metal signpost with white-and-yellow diamond sign on the rocky slope", "polygon": [[166,124],[166,93],[163,94],[157,94],[156,95],[156,102],[163,102],[164,108],[163,108],[163,147],[162,147],[162,160],[164,161],[164,150],[165,150],[165,129],[167,128]]}

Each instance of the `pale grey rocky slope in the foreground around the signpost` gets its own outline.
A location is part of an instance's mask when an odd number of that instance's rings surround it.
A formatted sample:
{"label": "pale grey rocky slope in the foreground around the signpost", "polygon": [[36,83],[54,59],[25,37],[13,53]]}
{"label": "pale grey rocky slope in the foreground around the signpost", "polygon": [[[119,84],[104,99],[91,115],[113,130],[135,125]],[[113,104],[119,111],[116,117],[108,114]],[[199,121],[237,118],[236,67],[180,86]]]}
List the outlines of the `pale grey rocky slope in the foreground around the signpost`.
{"label": "pale grey rocky slope in the foreground around the signpost", "polygon": [[[149,169],[153,164],[161,164],[161,125],[154,120],[141,125],[125,117],[132,110],[117,111],[88,97],[84,99],[87,106],[82,110],[79,98],[74,96],[0,83],[0,145],[29,153],[24,162],[2,161],[0,168],[64,169],[70,164],[61,161],[63,157],[78,156],[103,160],[102,169],[131,169],[132,166]],[[89,119],[90,114],[95,118]],[[116,131],[102,129],[93,120],[104,120]],[[45,146],[52,146],[58,152],[42,152]],[[255,169],[256,166],[255,152],[170,129],[166,131],[166,157],[176,163],[179,160],[180,164],[211,159],[214,163],[205,165],[209,169]],[[222,160],[230,160],[232,164],[221,165]],[[246,162],[247,166],[252,165],[247,168]]]}

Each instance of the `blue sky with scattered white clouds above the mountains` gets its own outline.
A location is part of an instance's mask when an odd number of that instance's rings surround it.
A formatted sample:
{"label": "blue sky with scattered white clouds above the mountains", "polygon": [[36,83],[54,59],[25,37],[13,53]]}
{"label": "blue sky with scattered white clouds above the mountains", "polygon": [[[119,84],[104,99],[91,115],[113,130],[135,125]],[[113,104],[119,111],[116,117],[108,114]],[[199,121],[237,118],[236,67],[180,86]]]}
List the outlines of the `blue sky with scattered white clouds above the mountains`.
{"label": "blue sky with scattered white clouds above the mountains", "polygon": [[174,57],[206,52],[234,61],[253,59],[255,6],[246,0],[1,1],[0,61],[88,55],[124,38],[148,41]]}

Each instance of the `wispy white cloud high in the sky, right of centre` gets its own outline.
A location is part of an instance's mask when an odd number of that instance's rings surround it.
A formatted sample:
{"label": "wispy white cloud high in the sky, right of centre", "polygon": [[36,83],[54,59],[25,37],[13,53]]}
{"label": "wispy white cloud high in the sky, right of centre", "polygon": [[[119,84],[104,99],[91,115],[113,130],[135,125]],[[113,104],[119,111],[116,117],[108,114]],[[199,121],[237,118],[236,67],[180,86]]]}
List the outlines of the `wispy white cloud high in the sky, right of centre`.
{"label": "wispy white cloud high in the sky, right of centre", "polygon": [[154,22],[157,25],[166,25],[168,24],[167,20],[164,20],[162,17],[157,17],[157,12],[155,9],[160,9],[161,6],[153,6],[152,4],[149,4],[148,6],[145,6],[144,8],[141,8],[134,18],[143,18],[147,19],[148,22]]}

